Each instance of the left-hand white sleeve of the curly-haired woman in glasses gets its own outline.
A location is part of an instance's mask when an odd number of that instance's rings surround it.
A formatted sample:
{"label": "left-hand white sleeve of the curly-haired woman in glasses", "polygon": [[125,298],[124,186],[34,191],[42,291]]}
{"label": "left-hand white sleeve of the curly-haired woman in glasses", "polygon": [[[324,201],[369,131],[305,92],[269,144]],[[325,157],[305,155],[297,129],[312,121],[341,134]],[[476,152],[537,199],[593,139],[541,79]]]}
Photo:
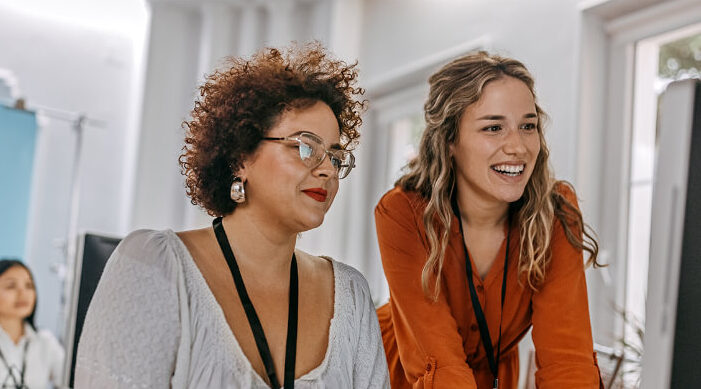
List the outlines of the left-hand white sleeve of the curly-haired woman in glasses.
{"label": "left-hand white sleeve of the curly-haired woman in glasses", "polygon": [[169,388],[178,267],[164,233],[137,231],[108,260],[78,345],[75,388]]}

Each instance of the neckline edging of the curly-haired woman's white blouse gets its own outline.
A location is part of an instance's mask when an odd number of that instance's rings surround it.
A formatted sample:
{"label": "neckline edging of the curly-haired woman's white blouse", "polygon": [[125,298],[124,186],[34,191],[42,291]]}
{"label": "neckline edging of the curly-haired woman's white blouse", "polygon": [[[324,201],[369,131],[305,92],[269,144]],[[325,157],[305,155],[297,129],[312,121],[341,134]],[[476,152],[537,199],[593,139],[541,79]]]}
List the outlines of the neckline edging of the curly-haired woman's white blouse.
{"label": "neckline edging of the curly-haired woman's white blouse", "polygon": [[[215,307],[215,316],[217,317],[217,323],[215,325],[218,326],[224,326],[228,331],[225,331],[227,333],[227,337],[229,338],[229,341],[232,342],[234,345],[234,353],[236,354],[234,358],[237,358],[241,361],[244,361],[244,364],[246,368],[253,373],[253,376],[255,377],[256,381],[258,384],[263,385],[264,387],[269,387],[270,384],[268,384],[263,377],[258,374],[258,372],[253,368],[253,365],[251,364],[251,361],[248,360],[248,357],[246,357],[246,354],[244,354],[243,350],[241,349],[241,345],[238,342],[238,339],[236,339],[236,335],[234,334],[234,331],[231,329],[229,326],[229,323],[226,321],[226,316],[224,315],[224,310],[222,309],[221,305],[217,301],[217,298],[214,296],[214,293],[212,290],[209,288],[209,284],[207,284],[207,280],[205,280],[204,275],[200,271],[200,268],[197,266],[197,263],[195,263],[195,259],[192,257],[192,254],[190,254],[190,250],[187,248],[185,245],[185,242],[180,239],[180,237],[175,233],[173,230],[167,230],[172,236],[175,238],[177,241],[178,247],[180,248],[181,254],[184,256],[184,263],[187,266],[190,266],[192,268],[192,272],[195,274],[195,278],[197,279],[197,285],[199,288],[204,288],[203,290],[205,291],[205,298],[211,303],[213,307]],[[295,249],[295,253],[299,256],[300,253],[301,255],[310,255],[307,254],[303,251]],[[333,269],[333,315],[331,316],[331,320],[329,320],[329,335],[327,339],[327,344],[326,344],[326,353],[324,355],[324,359],[321,361],[321,363],[316,366],[315,368],[309,370],[308,372],[304,373],[303,375],[295,378],[294,382],[297,381],[303,381],[303,380],[311,380],[314,379],[318,376],[320,376],[327,368],[329,364],[329,360],[331,357],[331,346],[333,345],[333,340],[335,338],[335,332],[336,332],[336,327],[338,326],[338,314],[340,312],[340,303],[339,303],[339,296],[338,296],[338,287],[339,287],[339,270],[338,266],[336,264],[336,261],[331,259],[331,258],[326,258],[322,257],[322,259],[325,259],[329,262],[331,262],[331,267]]]}

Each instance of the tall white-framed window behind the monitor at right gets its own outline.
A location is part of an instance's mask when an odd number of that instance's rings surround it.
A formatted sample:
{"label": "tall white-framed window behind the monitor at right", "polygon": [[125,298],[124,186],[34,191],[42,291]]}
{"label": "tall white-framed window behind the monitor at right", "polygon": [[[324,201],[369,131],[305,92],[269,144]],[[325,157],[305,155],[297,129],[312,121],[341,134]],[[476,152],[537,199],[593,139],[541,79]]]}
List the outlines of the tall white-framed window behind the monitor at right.
{"label": "tall white-framed window behind the monitor at right", "polygon": [[[701,7],[610,0],[582,9],[577,184],[609,264],[588,279],[592,327],[596,343],[625,353],[618,374],[631,372],[620,382],[629,385],[645,327],[658,98],[672,80],[699,76]],[[608,358],[599,361],[606,374]]]}

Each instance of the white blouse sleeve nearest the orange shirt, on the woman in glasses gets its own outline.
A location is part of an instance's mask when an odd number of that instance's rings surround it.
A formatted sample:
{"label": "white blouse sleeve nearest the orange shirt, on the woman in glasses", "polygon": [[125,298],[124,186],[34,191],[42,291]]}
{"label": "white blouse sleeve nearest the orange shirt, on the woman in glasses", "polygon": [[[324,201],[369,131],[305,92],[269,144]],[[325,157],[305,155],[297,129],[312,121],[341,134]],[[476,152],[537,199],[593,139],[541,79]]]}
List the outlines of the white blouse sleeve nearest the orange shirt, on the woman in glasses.
{"label": "white blouse sleeve nearest the orange shirt, on the woman in glasses", "polygon": [[353,388],[389,389],[389,370],[377,313],[370,288],[360,272],[351,271],[351,290],[354,298],[358,343],[353,363]]}

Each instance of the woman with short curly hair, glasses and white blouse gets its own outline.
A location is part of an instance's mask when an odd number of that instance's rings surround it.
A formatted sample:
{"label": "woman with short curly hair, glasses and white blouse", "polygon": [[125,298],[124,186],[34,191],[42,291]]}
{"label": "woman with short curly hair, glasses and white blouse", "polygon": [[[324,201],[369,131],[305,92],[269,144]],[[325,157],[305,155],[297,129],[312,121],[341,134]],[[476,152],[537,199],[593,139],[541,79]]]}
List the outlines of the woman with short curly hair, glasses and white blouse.
{"label": "woman with short curly hair, glasses and white blouse", "polygon": [[200,88],[180,156],[210,228],[136,231],[87,313],[76,388],[385,388],[355,269],[295,249],[354,167],[355,65],[317,44],[234,59]]}

